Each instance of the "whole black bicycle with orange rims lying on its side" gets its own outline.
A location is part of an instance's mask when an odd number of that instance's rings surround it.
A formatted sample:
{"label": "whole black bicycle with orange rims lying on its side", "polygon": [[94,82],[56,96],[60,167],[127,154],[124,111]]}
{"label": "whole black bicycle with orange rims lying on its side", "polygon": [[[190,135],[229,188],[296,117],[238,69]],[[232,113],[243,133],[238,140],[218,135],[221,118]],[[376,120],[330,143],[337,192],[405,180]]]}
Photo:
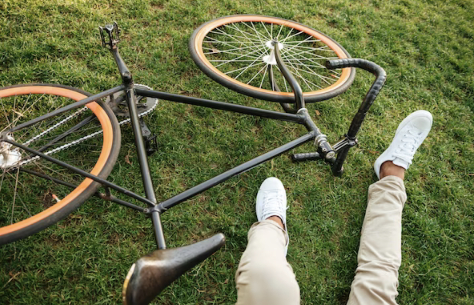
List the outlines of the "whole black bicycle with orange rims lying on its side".
{"label": "whole black bicycle with orange rims lying on its side", "polygon": [[[166,249],[160,220],[163,212],[309,141],[314,141],[317,151],[293,154],[292,159],[295,162],[322,159],[331,166],[334,175],[341,175],[349,149],[357,144],[356,134],[365,114],[386,78],[380,66],[350,58],[336,41],[310,27],[276,17],[227,16],[196,29],[189,45],[193,60],[221,85],[247,96],[277,102],[284,112],[228,104],[134,84],[118,52],[117,23],[99,30],[102,46],[109,49],[117,64],[122,79],[119,86],[95,95],[51,84],[0,88],[0,111],[5,118],[0,123],[2,207],[7,206],[3,203],[12,202],[3,210],[7,216],[1,223],[0,244],[45,229],[91,196],[146,214],[152,219],[158,250],[140,258],[130,268],[123,286],[123,301],[128,305],[148,304],[171,282],[224,244],[224,235],[217,234],[195,244]],[[305,105],[346,91],[355,78],[355,68],[372,72],[376,79],[348,132],[330,145]],[[274,73],[276,70],[278,73]],[[308,133],[157,202],[147,161],[156,150],[156,136],[146,126],[144,117],[155,109],[158,99],[298,123]],[[44,114],[38,116],[40,112]],[[125,123],[131,124],[134,133],[145,197],[107,180],[120,149],[120,125]],[[78,157],[82,153],[87,153],[88,158]],[[105,191],[99,192],[100,187]],[[147,207],[118,199],[111,190]],[[43,204],[27,207],[26,202],[37,200]],[[21,210],[15,209],[16,206],[21,206]]]}

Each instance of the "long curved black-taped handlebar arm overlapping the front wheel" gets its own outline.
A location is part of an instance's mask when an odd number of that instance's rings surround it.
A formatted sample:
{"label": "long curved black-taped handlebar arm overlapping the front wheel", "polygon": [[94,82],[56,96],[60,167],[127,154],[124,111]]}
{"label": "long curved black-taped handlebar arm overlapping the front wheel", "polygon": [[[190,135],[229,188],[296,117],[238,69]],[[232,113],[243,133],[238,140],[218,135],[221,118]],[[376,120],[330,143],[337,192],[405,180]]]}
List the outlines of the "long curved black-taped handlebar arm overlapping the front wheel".
{"label": "long curved black-taped handlebar arm overlapping the front wheel", "polygon": [[370,87],[369,91],[365,95],[364,101],[360,105],[359,110],[354,116],[351,126],[349,127],[349,131],[347,132],[347,136],[353,139],[356,138],[357,131],[359,131],[359,128],[362,125],[362,122],[364,121],[365,114],[367,113],[367,111],[369,111],[370,106],[374,103],[375,98],[377,97],[383,85],[385,84],[385,80],[387,79],[387,73],[385,73],[385,70],[383,70],[383,68],[377,65],[376,63],[360,58],[343,58],[326,61],[326,68],[328,69],[348,67],[364,69],[373,73],[376,77],[374,83],[372,84],[372,87]]}

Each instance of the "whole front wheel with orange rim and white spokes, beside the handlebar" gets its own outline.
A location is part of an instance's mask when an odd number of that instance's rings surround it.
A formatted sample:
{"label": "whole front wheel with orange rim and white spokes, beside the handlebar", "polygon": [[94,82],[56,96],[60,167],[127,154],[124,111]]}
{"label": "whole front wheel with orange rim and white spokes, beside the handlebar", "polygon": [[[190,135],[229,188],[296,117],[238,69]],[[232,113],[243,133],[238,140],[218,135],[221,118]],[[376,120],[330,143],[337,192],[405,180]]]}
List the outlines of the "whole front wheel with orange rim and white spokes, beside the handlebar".
{"label": "whole front wheel with orange rim and white spokes, beside the handlebar", "polygon": [[[356,75],[354,68],[328,70],[330,59],[350,58],[336,41],[300,23],[268,16],[235,15],[209,21],[194,31],[191,57],[219,84],[256,98],[294,103],[292,88],[278,71],[273,43],[297,78],[306,102],[343,93]],[[271,86],[269,74],[280,91]]]}

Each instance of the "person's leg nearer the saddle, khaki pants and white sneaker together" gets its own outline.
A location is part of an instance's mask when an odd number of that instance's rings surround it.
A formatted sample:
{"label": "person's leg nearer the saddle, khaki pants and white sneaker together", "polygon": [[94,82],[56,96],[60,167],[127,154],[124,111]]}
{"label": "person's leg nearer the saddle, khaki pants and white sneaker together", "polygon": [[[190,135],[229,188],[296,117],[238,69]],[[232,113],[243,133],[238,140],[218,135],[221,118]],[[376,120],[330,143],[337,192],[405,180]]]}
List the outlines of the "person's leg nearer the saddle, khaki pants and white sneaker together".
{"label": "person's leg nearer the saddle, khaki pants and white sneaker together", "polygon": [[300,288],[286,261],[286,194],[276,178],[262,183],[257,219],[236,272],[237,305],[299,305]]}

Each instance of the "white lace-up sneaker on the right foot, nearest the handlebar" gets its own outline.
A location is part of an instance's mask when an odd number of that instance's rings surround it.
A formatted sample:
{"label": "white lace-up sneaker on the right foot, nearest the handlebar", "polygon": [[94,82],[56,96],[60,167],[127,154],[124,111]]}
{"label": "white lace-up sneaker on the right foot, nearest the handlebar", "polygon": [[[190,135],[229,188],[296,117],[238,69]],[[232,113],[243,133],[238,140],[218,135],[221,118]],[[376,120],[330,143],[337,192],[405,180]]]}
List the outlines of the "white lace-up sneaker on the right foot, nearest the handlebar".
{"label": "white lace-up sneaker on the right foot, nearest the handlebar", "polygon": [[380,179],[380,167],[385,161],[392,161],[394,165],[408,169],[416,150],[433,124],[433,116],[426,110],[411,113],[398,125],[395,137],[389,148],[380,155],[374,163],[374,170]]}

